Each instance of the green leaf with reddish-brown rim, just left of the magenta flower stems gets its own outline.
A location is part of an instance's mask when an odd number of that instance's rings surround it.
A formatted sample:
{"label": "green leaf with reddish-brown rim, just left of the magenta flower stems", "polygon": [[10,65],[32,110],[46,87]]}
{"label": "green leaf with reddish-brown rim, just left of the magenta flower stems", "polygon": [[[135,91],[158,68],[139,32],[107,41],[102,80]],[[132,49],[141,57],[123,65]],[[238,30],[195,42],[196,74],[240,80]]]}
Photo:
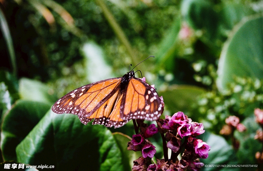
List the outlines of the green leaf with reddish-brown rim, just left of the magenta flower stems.
{"label": "green leaf with reddish-brown rim, just left of the magenta flower stems", "polygon": [[133,167],[133,161],[141,156],[140,151],[130,151],[127,149],[127,143],[131,141],[131,137],[121,133],[114,132],[113,137],[122,152],[122,163],[124,164],[124,170],[131,170]]}

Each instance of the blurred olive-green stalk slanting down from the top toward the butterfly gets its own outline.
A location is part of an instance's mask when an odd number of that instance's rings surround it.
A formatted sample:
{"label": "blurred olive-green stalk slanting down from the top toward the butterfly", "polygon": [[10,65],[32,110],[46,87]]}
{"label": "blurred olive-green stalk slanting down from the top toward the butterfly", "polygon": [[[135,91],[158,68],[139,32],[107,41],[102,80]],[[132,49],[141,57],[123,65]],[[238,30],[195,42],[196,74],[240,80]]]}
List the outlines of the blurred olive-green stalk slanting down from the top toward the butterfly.
{"label": "blurred olive-green stalk slanting down from the top toward the butterfly", "polygon": [[131,61],[133,63],[136,63],[137,60],[137,53],[136,51],[131,47],[130,42],[128,38],[126,37],[124,31],[119,26],[118,22],[115,20],[113,14],[110,12],[110,10],[107,8],[105,3],[102,0],[96,0],[96,3],[100,6],[102,9],[102,12],[104,14],[104,17],[109,22],[110,26],[112,27],[113,31],[115,32],[118,39],[122,42],[122,44],[126,47],[128,54],[131,57]]}

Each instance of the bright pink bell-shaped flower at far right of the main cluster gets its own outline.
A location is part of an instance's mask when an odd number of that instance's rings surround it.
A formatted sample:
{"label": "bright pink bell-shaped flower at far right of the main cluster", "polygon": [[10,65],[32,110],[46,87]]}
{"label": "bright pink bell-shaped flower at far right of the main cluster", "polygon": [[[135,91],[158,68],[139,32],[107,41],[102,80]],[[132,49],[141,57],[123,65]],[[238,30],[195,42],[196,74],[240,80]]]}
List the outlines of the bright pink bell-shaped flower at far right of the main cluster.
{"label": "bright pink bell-shaped flower at far right of the main cluster", "polygon": [[203,142],[200,139],[194,140],[194,148],[195,153],[199,155],[201,158],[207,158],[208,157],[208,151],[210,150],[210,146]]}

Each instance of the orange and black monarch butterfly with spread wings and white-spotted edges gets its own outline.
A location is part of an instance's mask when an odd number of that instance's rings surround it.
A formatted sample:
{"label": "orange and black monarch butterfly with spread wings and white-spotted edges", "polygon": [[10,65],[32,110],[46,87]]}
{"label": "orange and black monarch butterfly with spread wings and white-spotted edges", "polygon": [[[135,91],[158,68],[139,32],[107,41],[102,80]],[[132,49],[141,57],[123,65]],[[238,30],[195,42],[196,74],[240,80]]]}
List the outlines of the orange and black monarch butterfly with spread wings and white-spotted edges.
{"label": "orange and black monarch butterfly with spread wings and white-spotted edges", "polygon": [[159,119],[162,104],[157,92],[142,79],[135,78],[133,69],[123,77],[94,82],[69,92],[52,106],[52,111],[78,115],[85,125],[95,118],[92,124],[114,128],[131,119]]}

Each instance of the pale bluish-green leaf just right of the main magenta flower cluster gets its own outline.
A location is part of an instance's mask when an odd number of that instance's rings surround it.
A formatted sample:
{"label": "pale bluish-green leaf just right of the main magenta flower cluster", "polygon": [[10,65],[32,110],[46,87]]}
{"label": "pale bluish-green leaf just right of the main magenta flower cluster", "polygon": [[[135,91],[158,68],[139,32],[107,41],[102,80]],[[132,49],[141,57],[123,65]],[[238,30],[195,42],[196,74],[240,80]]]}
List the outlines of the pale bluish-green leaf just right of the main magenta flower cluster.
{"label": "pale bluish-green leaf just right of the main magenta flower cluster", "polygon": [[[235,151],[231,145],[229,145],[225,138],[219,135],[215,135],[209,132],[205,132],[199,139],[206,142],[210,147],[207,159],[200,159],[200,162],[204,164],[237,164],[237,158]],[[229,170],[229,168],[217,168],[217,167],[203,167],[202,170]],[[239,170],[238,168],[231,168],[231,170]]]}

